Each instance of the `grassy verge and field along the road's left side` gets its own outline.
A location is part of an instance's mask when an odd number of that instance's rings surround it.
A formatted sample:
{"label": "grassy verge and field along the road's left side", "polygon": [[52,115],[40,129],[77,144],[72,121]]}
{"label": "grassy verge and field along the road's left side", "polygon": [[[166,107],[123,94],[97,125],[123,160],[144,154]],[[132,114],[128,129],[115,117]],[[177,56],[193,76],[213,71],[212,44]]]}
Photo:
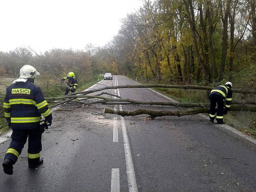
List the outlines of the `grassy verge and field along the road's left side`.
{"label": "grassy verge and field along the road's left side", "polygon": [[[98,82],[98,80],[101,81],[102,79],[103,79],[103,76],[97,75],[97,76],[91,77],[87,81],[83,81],[83,83],[79,84],[79,82],[78,82],[77,92],[82,91],[82,90],[90,87],[93,84],[96,84]],[[0,80],[2,80],[2,82],[4,82],[3,84],[9,86],[9,85],[12,84],[12,82],[15,79],[13,79],[13,78],[1,78]],[[61,84],[61,83],[56,82],[56,81],[51,80],[51,79],[49,79],[47,81],[47,83],[64,85],[64,84]],[[44,97],[59,97],[59,96],[63,96],[64,92],[65,92],[65,87],[57,87],[57,86],[53,86],[53,85],[44,84],[44,82],[39,78],[36,79],[35,84],[38,85],[42,89],[42,91],[44,93]],[[5,93],[6,93],[6,86],[0,85],[0,94],[1,94],[0,102],[1,103],[3,102],[3,99],[4,99],[3,97],[4,97]],[[0,132],[1,131],[5,132],[8,129],[9,128],[6,124],[4,114],[0,114]]]}

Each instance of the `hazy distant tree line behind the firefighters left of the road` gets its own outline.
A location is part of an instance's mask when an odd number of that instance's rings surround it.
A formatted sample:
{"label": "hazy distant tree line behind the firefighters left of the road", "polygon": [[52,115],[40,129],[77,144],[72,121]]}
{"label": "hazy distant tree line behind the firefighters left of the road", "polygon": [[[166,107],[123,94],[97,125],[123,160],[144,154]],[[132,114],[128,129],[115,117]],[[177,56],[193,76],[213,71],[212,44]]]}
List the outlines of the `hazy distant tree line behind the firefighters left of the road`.
{"label": "hazy distant tree line behind the firefighters left of the road", "polygon": [[29,64],[40,72],[39,78],[45,82],[53,78],[52,74],[60,78],[70,71],[80,80],[88,81],[93,75],[103,71],[101,61],[94,56],[97,49],[99,48],[89,44],[85,51],[56,48],[38,53],[27,47],[18,47],[10,52],[0,52],[0,75],[17,78],[20,68]]}

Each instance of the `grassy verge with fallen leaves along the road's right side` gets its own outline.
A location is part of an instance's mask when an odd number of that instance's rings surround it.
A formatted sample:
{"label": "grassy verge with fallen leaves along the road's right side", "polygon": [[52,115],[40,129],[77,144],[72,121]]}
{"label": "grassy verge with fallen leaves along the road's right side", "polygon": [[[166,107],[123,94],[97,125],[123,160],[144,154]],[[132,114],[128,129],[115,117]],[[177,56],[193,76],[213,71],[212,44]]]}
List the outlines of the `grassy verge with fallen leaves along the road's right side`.
{"label": "grassy verge with fallen leaves along the road's right side", "polygon": [[[129,77],[132,80],[136,78]],[[140,81],[137,78],[138,83],[140,84],[170,84],[166,81],[149,80],[148,82]],[[182,90],[182,89],[171,89],[171,88],[153,88],[154,90],[180,102],[198,102],[198,103],[209,103],[207,97],[207,91],[205,90]],[[189,94],[191,96],[189,96]],[[246,96],[240,93],[233,93],[233,100],[241,100]],[[256,138],[256,114],[255,112],[247,111],[229,111],[228,115],[224,116],[224,121],[226,124],[236,128],[237,130],[244,132],[254,138]]]}

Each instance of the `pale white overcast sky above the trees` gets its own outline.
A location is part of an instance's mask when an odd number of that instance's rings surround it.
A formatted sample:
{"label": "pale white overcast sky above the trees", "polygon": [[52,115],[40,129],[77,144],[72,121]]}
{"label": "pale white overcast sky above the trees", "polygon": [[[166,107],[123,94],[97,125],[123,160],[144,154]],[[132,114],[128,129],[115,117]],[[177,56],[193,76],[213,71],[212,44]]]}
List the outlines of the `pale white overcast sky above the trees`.
{"label": "pale white overcast sky above the trees", "polygon": [[140,0],[0,0],[0,51],[103,46]]}

